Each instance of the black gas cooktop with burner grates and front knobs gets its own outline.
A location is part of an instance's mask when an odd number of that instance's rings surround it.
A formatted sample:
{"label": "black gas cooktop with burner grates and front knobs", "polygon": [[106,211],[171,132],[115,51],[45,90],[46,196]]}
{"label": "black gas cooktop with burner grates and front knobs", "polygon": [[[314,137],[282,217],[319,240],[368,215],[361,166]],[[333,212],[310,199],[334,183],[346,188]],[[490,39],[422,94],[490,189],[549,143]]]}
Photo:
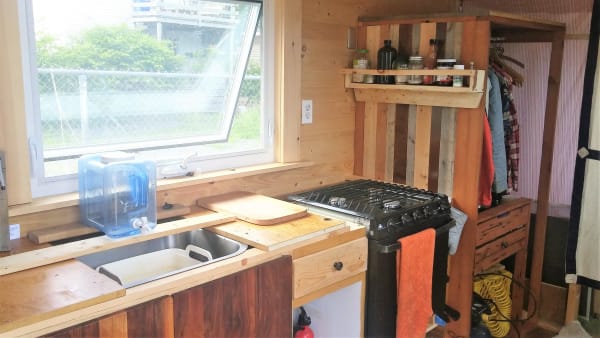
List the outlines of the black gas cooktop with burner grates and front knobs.
{"label": "black gas cooktop with burner grates and front knobs", "polygon": [[447,224],[448,197],[406,185],[353,180],[288,196],[289,200],[364,225],[381,243]]}

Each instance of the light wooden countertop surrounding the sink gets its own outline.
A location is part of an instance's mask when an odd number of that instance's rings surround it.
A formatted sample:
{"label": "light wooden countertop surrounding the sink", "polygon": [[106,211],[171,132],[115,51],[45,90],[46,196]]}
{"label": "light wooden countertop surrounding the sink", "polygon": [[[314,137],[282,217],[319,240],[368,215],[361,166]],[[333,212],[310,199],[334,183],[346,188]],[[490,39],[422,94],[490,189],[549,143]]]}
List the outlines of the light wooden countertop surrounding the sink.
{"label": "light wooden countertop surrounding the sink", "polygon": [[[217,213],[217,216],[212,215],[208,217],[210,219],[225,219],[225,216],[219,216]],[[194,217],[202,218],[203,216],[193,215],[191,218]],[[332,221],[329,219],[322,219],[319,221],[319,216],[314,215],[310,215],[309,217],[311,222],[321,222],[324,228],[313,229],[314,233],[312,235],[306,233],[292,233],[290,235],[289,232],[286,232],[285,236],[280,237],[284,240],[281,240],[280,243],[278,242],[278,245],[271,247],[271,251],[250,248],[241,255],[232,257],[230,259],[219,261],[126,290],[122,289],[119,285],[117,285],[118,288],[111,289],[108,284],[106,290],[104,291],[96,292],[98,290],[91,290],[90,286],[94,283],[98,283],[97,280],[94,282],[94,278],[98,278],[98,276],[104,276],[98,274],[94,270],[79,263],[78,261],[73,260],[72,258],[89,253],[90,250],[105,250],[99,249],[97,247],[98,243],[95,243],[94,241],[85,240],[80,242],[87,242],[86,245],[82,245],[82,243],[75,245],[73,245],[73,243],[69,243],[0,258],[0,275],[4,274],[0,276],[0,284],[3,286],[5,285],[5,281],[9,281],[17,277],[19,277],[18,279],[25,278],[21,279],[21,281],[23,281],[27,280],[27,278],[31,278],[31,276],[38,275],[39,272],[47,271],[47,269],[57,269],[62,267],[64,268],[62,271],[65,273],[63,281],[70,281],[70,283],[63,284],[63,287],[68,285],[68,287],[71,289],[75,288],[80,290],[82,293],[81,299],[76,302],[74,301],[72,304],[66,304],[61,303],[61,301],[57,301],[54,302],[55,306],[53,307],[44,307],[43,304],[47,303],[44,302],[44,300],[52,299],[53,297],[56,297],[56,295],[61,295],[60,291],[57,291],[59,288],[55,288],[53,291],[50,291],[46,288],[51,279],[47,279],[46,281],[31,279],[31,282],[28,283],[29,285],[25,288],[23,287],[25,282],[15,284],[14,288],[12,289],[3,287],[0,291],[0,306],[2,307],[2,310],[7,309],[8,311],[0,311],[0,335],[6,335],[10,337],[40,336],[55,332],[60,329],[99,318],[101,316],[105,316],[159,297],[172,295],[176,292],[210,282],[240,270],[260,265],[282,255],[289,255],[294,252],[298,252],[299,248],[306,247],[307,245],[314,243],[319,243],[321,241],[335,239],[341,234],[352,232],[355,233],[357,238],[364,236],[364,228],[362,227],[355,225],[344,226],[344,224],[339,221]],[[231,221],[231,219],[228,220]],[[176,222],[179,222],[177,224],[180,224],[182,221]],[[227,221],[217,222],[217,224],[223,224],[226,222]],[[239,222],[240,221],[234,222],[236,223],[236,231],[239,230]],[[296,221],[296,224],[292,225],[292,227],[297,227],[297,224],[303,224],[303,222],[298,223]],[[280,231],[283,231],[283,229],[290,229],[289,224],[281,225],[281,227],[280,225],[274,225],[268,226],[268,228],[271,232],[277,232],[278,229]],[[190,230],[190,227],[191,225],[188,224],[187,227],[179,227],[178,231],[187,231]],[[153,237],[165,236],[173,231],[175,230],[171,229],[160,235],[154,234]],[[271,234],[271,237],[268,238],[277,238],[277,236],[272,236],[273,235]],[[344,237],[345,236],[347,235],[344,235]],[[240,238],[236,239],[240,240]],[[252,245],[251,243],[247,244]],[[112,243],[111,245],[114,246],[115,244]],[[69,247],[70,251],[76,250],[76,252],[67,252],[59,248],[65,246]],[[108,248],[110,248],[110,245]],[[50,252],[50,254],[44,254],[44,252]],[[24,262],[25,260],[36,258],[40,259],[40,262]],[[21,271],[24,270],[20,268],[21,264],[25,264],[27,269],[32,269]],[[10,273],[6,273],[7,268],[11,271]],[[88,269],[89,271],[86,271],[85,269]],[[2,270],[4,270],[4,273]],[[12,273],[14,271],[17,272]],[[95,275],[94,278],[90,276],[81,278],[90,272]],[[70,277],[67,277],[67,275]],[[21,291],[17,292],[17,290]],[[88,296],[88,299],[85,299],[85,295]],[[36,300],[36,304],[24,307],[24,311],[19,312],[10,310],[10,308],[23,306],[32,299]],[[77,311],[75,312],[74,310]]]}

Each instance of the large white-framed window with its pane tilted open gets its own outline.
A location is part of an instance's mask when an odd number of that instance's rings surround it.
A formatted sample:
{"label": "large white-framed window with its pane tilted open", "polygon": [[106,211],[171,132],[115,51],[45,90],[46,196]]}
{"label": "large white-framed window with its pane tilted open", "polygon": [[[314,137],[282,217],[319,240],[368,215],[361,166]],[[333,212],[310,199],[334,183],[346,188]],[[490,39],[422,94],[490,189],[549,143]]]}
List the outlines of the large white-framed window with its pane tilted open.
{"label": "large white-framed window with its pane tilted open", "polygon": [[34,196],[76,191],[83,154],[133,152],[158,177],[273,161],[268,1],[22,6]]}

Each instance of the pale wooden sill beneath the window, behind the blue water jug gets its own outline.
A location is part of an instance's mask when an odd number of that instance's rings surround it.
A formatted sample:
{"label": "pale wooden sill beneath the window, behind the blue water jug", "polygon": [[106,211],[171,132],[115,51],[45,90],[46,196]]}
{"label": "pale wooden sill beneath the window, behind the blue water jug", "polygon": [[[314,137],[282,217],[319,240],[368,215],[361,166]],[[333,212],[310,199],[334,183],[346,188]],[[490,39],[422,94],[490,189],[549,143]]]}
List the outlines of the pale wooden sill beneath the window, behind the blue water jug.
{"label": "pale wooden sill beneath the window, behind the blue water jug", "polygon": [[[213,183],[272,172],[280,172],[312,166],[312,162],[268,163],[249,167],[220,170],[183,178],[161,179],[157,182],[157,191],[165,191],[203,183]],[[31,203],[20,204],[8,208],[8,216],[16,217],[36,212],[79,205],[79,193],[61,194],[36,198]]]}

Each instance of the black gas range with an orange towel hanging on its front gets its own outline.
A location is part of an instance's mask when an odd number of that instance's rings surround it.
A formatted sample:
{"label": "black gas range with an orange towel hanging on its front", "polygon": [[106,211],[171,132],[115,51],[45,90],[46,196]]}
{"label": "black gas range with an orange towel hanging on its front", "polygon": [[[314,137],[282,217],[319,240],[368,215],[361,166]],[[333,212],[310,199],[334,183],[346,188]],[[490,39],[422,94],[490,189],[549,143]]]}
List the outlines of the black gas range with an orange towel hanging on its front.
{"label": "black gas range with an orange towel hanging on its front", "polygon": [[406,185],[352,180],[288,199],[311,212],[364,225],[368,239],[365,337],[396,336],[396,251],[398,239],[436,230],[432,309],[445,321],[459,314],[446,305],[448,233],[454,225],[447,196]]}

